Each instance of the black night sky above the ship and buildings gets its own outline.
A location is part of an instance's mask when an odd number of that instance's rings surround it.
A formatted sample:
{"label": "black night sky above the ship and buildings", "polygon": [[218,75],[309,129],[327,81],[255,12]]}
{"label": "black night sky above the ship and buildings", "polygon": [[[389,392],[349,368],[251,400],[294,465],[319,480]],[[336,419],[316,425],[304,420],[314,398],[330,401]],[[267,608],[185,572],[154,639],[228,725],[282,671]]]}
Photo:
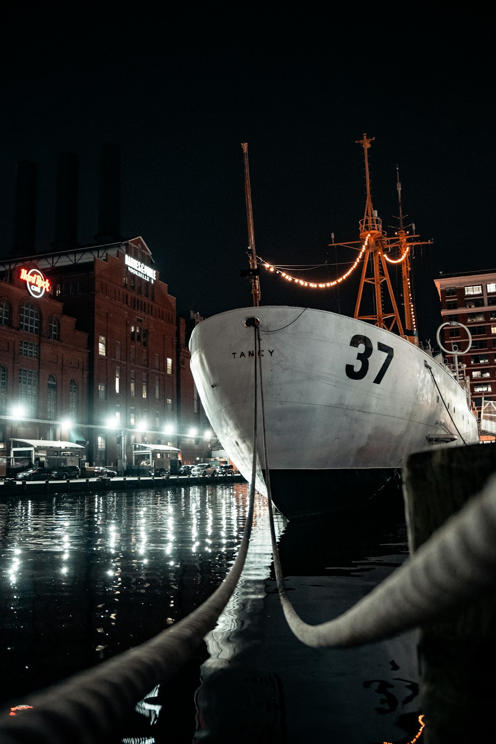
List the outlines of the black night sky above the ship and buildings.
{"label": "black night sky above the ship and buildings", "polygon": [[[250,305],[239,278],[248,266],[242,141],[257,253],[272,263],[333,263],[332,232],[358,240],[365,193],[355,140],[367,132],[376,138],[372,193],[383,225],[398,214],[399,164],[407,221],[434,240],[413,261],[419,335],[434,341],[438,272],[496,268],[489,18],[477,7],[434,20],[358,6],[336,22],[277,7],[280,16],[254,6],[251,17],[240,9],[213,17],[192,6],[173,20],[146,7],[126,16],[117,5],[57,18],[30,4],[12,11],[1,63],[1,253],[12,245],[21,160],[38,164],[36,243],[49,250],[65,151],[80,158],[78,240],[91,243],[100,145],[112,142],[122,155],[121,233],[144,238],[178,310]],[[323,295],[266,272],[261,289],[263,304],[344,312],[355,294],[352,281]]]}

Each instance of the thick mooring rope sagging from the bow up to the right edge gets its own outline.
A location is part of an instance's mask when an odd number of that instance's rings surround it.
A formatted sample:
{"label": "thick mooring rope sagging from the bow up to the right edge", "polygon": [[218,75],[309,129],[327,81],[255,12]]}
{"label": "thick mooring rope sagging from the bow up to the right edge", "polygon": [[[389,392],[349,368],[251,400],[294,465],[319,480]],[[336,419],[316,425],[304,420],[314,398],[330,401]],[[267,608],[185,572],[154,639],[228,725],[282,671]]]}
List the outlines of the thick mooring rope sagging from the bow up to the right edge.
{"label": "thick mooring rope sagging from the bow up to the right edge", "polygon": [[356,647],[383,641],[413,629],[442,612],[494,589],[496,583],[496,475],[387,579],[351,609],[320,625],[305,623],[286,594],[277,551],[270,472],[265,436],[260,333],[260,401],[265,483],[271,525],[277,589],[286,621],[294,635],[311,647]]}

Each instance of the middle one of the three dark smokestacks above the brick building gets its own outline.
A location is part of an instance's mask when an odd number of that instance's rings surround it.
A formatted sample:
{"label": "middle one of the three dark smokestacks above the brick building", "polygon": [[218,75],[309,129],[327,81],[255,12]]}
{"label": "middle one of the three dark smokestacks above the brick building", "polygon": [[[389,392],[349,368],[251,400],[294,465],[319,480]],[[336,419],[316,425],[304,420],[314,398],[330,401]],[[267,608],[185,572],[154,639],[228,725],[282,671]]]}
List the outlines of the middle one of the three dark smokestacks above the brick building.
{"label": "middle one of the three dark smokestacks above the brick building", "polygon": [[77,181],[79,159],[75,153],[59,155],[57,169],[57,211],[52,248],[77,248]]}

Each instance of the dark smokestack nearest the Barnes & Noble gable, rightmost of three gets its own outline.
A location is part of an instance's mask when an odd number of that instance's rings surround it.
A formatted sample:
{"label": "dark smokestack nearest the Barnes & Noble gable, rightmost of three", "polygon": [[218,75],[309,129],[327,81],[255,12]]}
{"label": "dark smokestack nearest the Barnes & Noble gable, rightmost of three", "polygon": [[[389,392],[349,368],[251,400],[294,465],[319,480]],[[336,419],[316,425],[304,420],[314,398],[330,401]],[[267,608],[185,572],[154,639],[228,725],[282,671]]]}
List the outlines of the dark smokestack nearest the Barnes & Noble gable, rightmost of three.
{"label": "dark smokestack nearest the Barnes & Noble gable, rightmost of three", "polygon": [[120,148],[103,144],[100,149],[98,190],[98,243],[120,243]]}

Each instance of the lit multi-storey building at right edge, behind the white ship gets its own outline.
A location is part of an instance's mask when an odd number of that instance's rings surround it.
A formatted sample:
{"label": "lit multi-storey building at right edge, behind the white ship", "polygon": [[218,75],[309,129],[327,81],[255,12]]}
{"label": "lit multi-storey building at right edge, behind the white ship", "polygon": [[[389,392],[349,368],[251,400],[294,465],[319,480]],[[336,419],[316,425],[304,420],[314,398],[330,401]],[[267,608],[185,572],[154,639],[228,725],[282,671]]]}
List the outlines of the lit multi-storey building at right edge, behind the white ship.
{"label": "lit multi-storey building at right edge, behind the white ship", "polygon": [[470,380],[480,419],[483,405],[496,400],[496,271],[443,274],[434,282],[444,324],[441,343],[448,362]]}

